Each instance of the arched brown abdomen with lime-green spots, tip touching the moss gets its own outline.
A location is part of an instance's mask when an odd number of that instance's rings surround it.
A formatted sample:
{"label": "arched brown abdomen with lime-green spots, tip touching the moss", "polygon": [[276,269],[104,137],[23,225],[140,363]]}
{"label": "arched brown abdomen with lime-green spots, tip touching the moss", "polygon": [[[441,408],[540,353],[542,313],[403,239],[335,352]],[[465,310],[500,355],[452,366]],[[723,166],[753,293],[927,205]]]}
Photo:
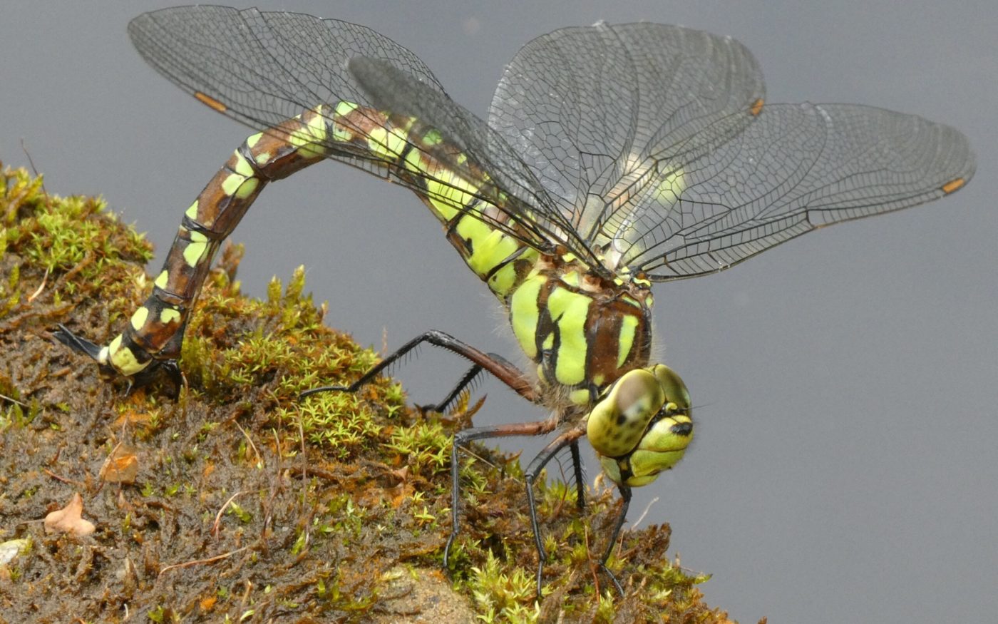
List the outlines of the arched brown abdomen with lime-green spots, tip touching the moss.
{"label": "arched brown abdomen with lime-green spots, tip touching the moss", "polygon": [[[304,111],[248,138],[188,208],[154,282],[153,294],[132,314],[125,331],[100,354],[131,376],[156,359],[180,355],[184,329],[221,243],[246,215],[263,187],[332,156],[386,177],[406,180],[440,220],[447,239],[468,267],[506,300],[522,283],[537,252],[484,223],[497,212],[478,197],[476,184],[430,156],[447,149],[432,129],[411,118],[391,117],[340,102]],[[450,152],[455,158],[462,158]]]}

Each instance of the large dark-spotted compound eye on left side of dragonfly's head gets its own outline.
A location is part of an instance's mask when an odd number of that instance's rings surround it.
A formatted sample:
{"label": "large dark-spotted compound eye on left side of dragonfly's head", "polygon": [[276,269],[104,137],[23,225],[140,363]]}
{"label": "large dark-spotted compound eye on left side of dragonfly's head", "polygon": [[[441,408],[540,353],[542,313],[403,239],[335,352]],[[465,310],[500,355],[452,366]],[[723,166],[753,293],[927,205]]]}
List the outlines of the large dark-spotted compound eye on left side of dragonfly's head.
{"label": "large dark-spotted compound eye on left side of dragonfly's head", "polygon": [[627,372],[590,412],[586,425],[590,443],[601,455],[617,457],[630,452],[665,402],[663,385],[650,370]]}

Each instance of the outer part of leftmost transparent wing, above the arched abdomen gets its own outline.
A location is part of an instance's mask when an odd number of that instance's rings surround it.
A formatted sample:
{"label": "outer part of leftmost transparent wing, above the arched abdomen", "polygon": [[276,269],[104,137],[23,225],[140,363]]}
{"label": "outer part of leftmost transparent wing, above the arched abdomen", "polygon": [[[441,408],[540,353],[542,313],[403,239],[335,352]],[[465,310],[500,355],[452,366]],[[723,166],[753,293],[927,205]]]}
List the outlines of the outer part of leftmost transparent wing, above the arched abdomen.
{"label": "outer part of leftmost transparent wing, above the arched abdomen", "polygon": [[340,100],[367,103],[346,63],[383,59],[437,93],[430,70],[402,46],[356,24],[298,13],[186,6],[144,13],[129,23],[139,54],[190,93],[224,104],[222,111],[265,129],[302,108]]}

